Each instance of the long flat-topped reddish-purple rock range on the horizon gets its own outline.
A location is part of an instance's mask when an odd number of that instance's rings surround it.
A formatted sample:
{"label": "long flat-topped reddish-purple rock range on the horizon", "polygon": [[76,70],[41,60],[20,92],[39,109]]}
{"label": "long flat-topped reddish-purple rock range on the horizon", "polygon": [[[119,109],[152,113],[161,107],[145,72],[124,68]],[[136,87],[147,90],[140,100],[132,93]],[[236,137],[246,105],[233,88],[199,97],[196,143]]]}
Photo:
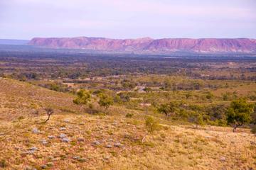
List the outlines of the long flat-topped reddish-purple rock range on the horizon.
{"label": "long flat-topped reddish-purple rock range on the horizon", "polygon": [[256,40],[248,38],[33,38],[28,44],[50,48],[128,52],[256,52]]}

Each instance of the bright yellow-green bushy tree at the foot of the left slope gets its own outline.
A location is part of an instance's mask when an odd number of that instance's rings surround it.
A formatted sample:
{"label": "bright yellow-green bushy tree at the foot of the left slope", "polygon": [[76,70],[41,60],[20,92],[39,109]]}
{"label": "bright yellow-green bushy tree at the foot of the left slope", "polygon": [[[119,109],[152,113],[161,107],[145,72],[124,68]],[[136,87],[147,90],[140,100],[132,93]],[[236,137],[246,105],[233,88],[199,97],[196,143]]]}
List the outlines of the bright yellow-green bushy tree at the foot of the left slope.
{"label": "bright yellow-green bushy tree at the foot of the left slope", "polygon": [[77,94],[77,98],[73,100],[73,103],[80,106],[80,112],[82,113],[83,106],[90,101],[91,95],[89,91],[80,89]]}

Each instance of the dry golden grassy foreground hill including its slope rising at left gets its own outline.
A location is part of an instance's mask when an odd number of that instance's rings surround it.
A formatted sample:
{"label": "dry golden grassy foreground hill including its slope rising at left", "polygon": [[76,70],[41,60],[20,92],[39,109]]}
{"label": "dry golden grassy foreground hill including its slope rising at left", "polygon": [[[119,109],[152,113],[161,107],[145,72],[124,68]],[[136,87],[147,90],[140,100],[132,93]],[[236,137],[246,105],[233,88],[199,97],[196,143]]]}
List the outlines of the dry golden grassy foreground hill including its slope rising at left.
{"label": "dry golden grassy foreground hill including its slope rising at left", "polygon": [[[0,87],[0,168],[256,169],[249,130],[161,121],[148,133],[139,111],[112,106],[108,115],[80,114],[71,94],[11,79],[0,79]],[[48,105],[55,113],[43,123]]]}

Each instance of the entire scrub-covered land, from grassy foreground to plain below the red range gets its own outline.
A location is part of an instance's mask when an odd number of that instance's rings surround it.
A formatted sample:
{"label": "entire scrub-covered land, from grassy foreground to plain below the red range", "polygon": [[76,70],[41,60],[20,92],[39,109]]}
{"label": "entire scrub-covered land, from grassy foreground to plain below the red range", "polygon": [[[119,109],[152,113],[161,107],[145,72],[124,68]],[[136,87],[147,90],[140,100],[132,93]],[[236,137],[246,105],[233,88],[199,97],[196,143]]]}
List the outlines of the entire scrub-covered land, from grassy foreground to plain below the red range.
{"label": "entire scrub-covered land, from grassy foreground to plain below the red range", "polygon": [[0,52],[0,168],[256,169],[251,57],[24,53]]}

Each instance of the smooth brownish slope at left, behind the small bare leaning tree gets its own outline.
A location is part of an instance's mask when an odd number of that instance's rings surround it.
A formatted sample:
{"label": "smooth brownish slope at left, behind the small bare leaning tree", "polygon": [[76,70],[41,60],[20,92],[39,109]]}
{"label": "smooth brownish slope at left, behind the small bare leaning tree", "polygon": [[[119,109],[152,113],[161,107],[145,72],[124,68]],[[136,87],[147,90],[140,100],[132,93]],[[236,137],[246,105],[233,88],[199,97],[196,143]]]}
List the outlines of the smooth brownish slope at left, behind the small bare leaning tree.
{"label": "smooth brownish slope at left, behind the small bare leaning tree", "polygon": [[0,121],[45,115],[43,108],[47,106],[53,107],[55,113],[78,111],[73,104],[74,96],[14,79],[0,78],[0,96]]}

